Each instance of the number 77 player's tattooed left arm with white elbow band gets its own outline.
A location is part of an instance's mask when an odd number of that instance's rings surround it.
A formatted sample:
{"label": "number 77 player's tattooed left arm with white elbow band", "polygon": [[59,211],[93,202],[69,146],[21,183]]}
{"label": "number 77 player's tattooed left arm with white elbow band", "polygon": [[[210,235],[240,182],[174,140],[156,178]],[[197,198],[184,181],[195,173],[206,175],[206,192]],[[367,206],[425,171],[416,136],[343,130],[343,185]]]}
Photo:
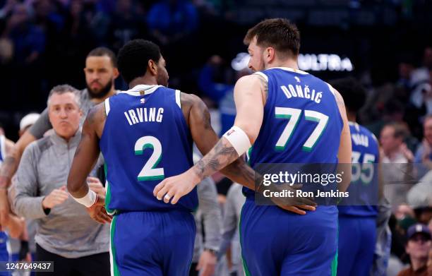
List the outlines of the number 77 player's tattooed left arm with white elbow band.
{"label": "number 77 player's tattooed left arm with white elbow band", "polygon": [[[237,110],[233,127],[235,133],[231,133],[229,138],[224,135],[207,155],[184,174],[169,177],[158,184],[153,191],[158,199],[167,194],[167,197],[172,198],[172,204],[177,203],[181,196],[192,191],[201,180],[227,167],[251,147],[263,122],[264,87],[267,87],[267,83],[264,84],[256,75],[245,76],[237,81],[234,88]],[[239,183],[243,184],[241,181]]]}

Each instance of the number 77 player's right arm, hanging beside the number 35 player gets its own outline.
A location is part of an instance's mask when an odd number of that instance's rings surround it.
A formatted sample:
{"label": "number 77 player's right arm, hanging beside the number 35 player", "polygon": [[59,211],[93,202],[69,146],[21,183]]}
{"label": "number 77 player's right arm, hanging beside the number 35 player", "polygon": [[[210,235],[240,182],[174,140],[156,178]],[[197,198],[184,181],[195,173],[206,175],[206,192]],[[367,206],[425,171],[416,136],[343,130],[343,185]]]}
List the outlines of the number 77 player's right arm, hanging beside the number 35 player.
{"label": "number 77 player's right arm, hanging beside the number 35 player", "polygon": [[347,117],[347,109],[345,109],[344,99],[342,95],[333,88],[335,92],[337,107],[339,108],[340,115],[342,116],[343,128],[342,133],[340,135],[340,144],[339,151],[337,152],[337,159],[339,163],[342,164],[340,166],[340,170],[344,173],[342,177],[342,182],[340,183],[339,191],[344,192],[347,191],[347,188],[351,182],[351,173],[352,168],[349,164],[352,163],[351,155],[352,155],[352,145],[351,145],[351,133],[349,131],[348,117]]}

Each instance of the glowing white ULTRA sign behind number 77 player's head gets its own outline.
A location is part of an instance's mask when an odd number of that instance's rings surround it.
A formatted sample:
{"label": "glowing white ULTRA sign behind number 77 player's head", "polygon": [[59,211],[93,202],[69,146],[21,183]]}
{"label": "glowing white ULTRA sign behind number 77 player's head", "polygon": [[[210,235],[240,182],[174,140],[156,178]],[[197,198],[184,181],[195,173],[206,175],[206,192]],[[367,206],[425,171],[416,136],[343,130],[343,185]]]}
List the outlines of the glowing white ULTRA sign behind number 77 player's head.
{"label": "glowing white ULTRA sign behind number 77 player's head", "polygon": [[[241,71],[248,66],[251,57],[248,53],[239,53],[231,61],[235,71]],[[337,54],[299,54],[299,68],[303,71],[353,71],[351,60]]]}

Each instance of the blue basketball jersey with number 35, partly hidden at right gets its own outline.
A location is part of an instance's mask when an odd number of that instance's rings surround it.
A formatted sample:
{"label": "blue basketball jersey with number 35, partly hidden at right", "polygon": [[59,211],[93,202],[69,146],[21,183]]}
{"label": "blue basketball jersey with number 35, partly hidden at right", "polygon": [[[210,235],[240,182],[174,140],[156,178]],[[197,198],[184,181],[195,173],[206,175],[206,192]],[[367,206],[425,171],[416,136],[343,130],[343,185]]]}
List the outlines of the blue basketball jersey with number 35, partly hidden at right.
{"label": "blue basketball jersey with number 35, partly hidden at right", "polygon": [[378,214],[378,164],[379,147],[376,137],[363,126],[349,122],[352,141],[352,178],[348,187],[350,195],[356,196],[356,204],[340,205],[341,215],[362,217]]}

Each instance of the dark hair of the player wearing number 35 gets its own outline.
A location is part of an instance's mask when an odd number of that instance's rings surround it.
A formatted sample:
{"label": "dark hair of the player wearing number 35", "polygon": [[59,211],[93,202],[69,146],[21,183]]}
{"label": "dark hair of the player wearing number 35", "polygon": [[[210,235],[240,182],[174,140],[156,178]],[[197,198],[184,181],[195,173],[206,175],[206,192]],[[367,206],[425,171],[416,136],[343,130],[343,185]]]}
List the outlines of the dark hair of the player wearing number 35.
{"label": "dark hair of the player wearing number 35", "polygon": [[330,81],[345,102],[348,112],[357,113],[366,102],[366,90],[355,78],[338,78]]}

